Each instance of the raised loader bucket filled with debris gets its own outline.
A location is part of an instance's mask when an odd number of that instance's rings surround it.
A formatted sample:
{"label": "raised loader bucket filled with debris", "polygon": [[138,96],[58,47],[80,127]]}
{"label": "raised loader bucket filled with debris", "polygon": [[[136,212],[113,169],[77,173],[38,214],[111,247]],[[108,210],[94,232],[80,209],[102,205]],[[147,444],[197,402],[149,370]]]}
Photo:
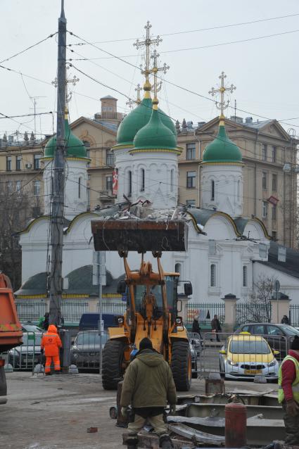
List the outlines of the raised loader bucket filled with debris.
{"label": "raised loader bucket filled with debris", "polygon": [[91,220],[96,251],[186,251],[184,220]]}

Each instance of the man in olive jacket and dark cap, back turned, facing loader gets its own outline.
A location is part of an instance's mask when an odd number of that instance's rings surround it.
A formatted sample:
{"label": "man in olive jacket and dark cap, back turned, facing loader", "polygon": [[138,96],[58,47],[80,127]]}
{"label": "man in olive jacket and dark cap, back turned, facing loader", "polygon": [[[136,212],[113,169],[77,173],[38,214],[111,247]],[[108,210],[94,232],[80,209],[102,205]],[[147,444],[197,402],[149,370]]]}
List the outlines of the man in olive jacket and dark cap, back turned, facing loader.
{"label": "man in olive jacket and dark cap, back turned, facing loader", "polygon": [[139,353],[129,364],[122,384],[120,405],[122,415],[127,417],[128,406],[132,405],[134,420],[128,425],[128,449],[136,449],[138,432],[146,423],[153,426],[159,436],[160,448],[172,448],[167,424],[163,420],[163,412],[170,403],[170,412],[175,412],[177,391],[172,372],[163,355],[153,349],[150,339],[142,339]]}

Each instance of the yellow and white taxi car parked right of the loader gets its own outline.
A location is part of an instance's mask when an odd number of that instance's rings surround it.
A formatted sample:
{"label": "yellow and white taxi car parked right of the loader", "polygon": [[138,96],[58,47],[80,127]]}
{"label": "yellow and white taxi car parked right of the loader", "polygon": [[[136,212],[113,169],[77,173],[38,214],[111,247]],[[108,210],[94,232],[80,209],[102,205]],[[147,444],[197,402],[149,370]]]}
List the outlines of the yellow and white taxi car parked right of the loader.
{"label": "yellow and white taxi car parked right of the loader", "polygon": [[278,379],[279,362],[259,335],[231,335],[220,352],[220,372],[225,379],[253,379],[257,375]]}

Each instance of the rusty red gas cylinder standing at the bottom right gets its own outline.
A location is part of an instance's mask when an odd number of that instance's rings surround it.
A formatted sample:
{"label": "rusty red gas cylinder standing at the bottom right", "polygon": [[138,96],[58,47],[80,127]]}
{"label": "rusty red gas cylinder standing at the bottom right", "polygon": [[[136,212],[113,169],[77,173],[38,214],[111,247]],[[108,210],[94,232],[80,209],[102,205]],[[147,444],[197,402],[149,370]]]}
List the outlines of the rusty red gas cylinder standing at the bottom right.
{"label": "rusty red gas cylinder standing at the bottom right", "polygon": [[225,405],[225,447],[242,448],[246,445],[246,406],[239,403]]}

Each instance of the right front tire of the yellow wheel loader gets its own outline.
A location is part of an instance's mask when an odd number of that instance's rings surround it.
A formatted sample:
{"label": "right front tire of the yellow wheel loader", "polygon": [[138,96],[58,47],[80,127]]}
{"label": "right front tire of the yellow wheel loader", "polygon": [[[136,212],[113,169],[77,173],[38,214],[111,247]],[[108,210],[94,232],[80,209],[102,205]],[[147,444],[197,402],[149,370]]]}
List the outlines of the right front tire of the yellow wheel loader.
{"label": "right front tire of the yellow wheel loader", "polygon": [[192,377],[189,341],[172,342],[171,370],[177,391],[189,391]]}

